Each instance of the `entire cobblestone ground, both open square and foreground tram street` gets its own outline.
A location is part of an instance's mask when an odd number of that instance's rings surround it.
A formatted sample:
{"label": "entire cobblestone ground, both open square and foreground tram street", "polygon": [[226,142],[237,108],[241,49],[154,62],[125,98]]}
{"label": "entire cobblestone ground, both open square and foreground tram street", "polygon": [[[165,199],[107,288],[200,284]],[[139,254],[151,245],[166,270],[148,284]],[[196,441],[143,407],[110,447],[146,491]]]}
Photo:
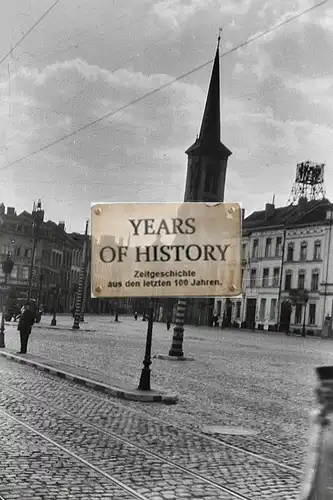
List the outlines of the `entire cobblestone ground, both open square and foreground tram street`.
{"label": "entire cobblestone ground, both open square and foreground tram street", "polygon": [[[43,317],[28,351],[137,386],[147,324],[86,319],[95,331],[52,331]],[[171,335],[154,325],[153,355],[167,354]],[[6,347],[18,347],[15,324],[6,325]],[[195,361],[152,364],[152,387],[179,394],[172,406],[119,401],[0,357],[0,495],[296,499],[314,368],[331,363],[332,349],[329,341],[186,327],[184,351]],[[210,436],[207,425],[255,435]]]}

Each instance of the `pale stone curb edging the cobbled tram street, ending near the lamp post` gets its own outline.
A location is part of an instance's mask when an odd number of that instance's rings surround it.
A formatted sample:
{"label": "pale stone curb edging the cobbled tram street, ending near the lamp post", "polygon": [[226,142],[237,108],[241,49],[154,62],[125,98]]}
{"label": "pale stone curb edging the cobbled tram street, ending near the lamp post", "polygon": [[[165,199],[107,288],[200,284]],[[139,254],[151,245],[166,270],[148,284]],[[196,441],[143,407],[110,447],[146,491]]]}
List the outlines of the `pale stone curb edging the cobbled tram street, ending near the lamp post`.
{"label": "pale stone curb edging the cobbled tram street, ending near the lamp post", "polygon": [[[103,384],[102,382],[96,382],[89,378],[83,377],[81,375],[74,375],[73,373],[66,372],[64,370],[53,368],[52,366],[44,365],[37,361],[32,361],[26,358],[22,358],[20,356],[16,356],[15,354],[11,354],[9,352],[1,351],[0,356],[4,358],[10,359],[11,361],[15,361],[20,364],[25,364],[37,368],[38,370],[45,371],[47,373],[52,373],[52,375],[57,375],[60,378],[65,378],[72,382],[76,382],[77,384],[84,385],[89,387],[90,389],[95,389],[96,391],[104,392],[106,394],[110,394],[115,398],[119,399],[128,399],[130,401],[140,401],[142,403],[165,403],[165,404],[176,404],[178,403],[178,395],[174,393],[158,393],[156,391],[138,391],[134,389],[132,391],[127,391],[124,389],[119,389],[118,387],[112,387],[107,384]],[[153,394],[151,394],[153,392]]]}

